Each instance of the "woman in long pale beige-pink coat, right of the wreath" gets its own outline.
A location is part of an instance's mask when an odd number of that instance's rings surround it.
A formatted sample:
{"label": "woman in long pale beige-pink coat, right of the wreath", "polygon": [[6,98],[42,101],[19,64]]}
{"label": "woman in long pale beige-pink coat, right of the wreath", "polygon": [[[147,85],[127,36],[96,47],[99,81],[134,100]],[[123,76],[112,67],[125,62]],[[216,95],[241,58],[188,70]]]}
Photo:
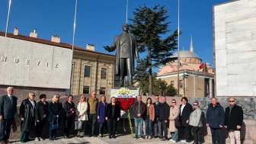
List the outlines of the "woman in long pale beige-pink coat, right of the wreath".
{"label": "woman in long pale beige-pink coat, right of the wreath", "polygon": [[178,141],[178,127],[175,126],[180,114],[180,108],[176,105],[176,100],[171,100],[170,117],[169,117],[169,131],[171,132],[171,141],[176,143]]}

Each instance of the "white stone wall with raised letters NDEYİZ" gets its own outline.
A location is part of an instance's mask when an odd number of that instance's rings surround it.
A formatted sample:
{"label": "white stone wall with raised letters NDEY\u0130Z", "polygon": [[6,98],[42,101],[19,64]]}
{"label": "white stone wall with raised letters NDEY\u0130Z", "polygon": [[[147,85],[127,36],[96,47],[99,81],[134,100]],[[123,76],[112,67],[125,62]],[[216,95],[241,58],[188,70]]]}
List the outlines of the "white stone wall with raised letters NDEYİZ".
{"label": "white stone wall with raised letters NDEY\u0130Z", "polygon": [[0,85],[69,89],[72,50],[0,37]]}

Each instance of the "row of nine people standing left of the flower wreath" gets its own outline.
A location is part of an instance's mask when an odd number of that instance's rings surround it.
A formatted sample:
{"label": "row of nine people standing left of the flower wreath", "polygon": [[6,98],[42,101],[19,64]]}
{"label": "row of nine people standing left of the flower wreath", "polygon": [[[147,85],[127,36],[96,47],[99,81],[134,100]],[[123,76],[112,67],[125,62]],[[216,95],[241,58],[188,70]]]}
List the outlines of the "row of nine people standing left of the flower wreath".
{"label": "row of nine people standing left of the flower wreath", "polygon": [[[96,92],[92,91],[91,98],[86,101],[85,95],[82,95],[77,106],[73,102],[72,95],[68,96],[68,100],[62,105],[59,101],[59,94],[53,96],[53,100],[46,101],[46,94],[40,94],[40,101],[35,101],[36,94],[30,92],[28,98],[21,102],[19,114],[17,113],[18,98],[13,95],[14,88],[8,87],[7,94],[0,97],[0,143],[11,143],[9,141],[11,126],[14,123],[21,123],[21,142],[30,141],[30,132],[35,130],[35,141],[42,141],[43,126],[48,121],[50,125],[49,139],[56,140],[56,130],[59,128],[59,122],[64,115],[63,136],[69,139],[69,130],[74,120],[82,121],[82,129],[78,130],[77,136],[97,136],[95,134],[95,123],[98,119],[99,136],[103,136],[104,126],[107,125],[109,138],[116,138],[117,121],[120,120],[120,105],[117,104],[116,98],[111,98],[107,104],[106,97],[101,96],[101,101],[96,98]],[[88,123],[86,123],[88,122]],[[85,130],[86,128],[86,130]]]}

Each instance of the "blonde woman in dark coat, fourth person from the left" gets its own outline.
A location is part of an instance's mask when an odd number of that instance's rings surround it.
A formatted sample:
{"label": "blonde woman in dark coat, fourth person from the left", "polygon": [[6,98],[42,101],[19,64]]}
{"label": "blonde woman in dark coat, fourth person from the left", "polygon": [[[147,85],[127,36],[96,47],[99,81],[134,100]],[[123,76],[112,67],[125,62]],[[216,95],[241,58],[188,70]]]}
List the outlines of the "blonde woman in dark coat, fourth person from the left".
{"label": "blonde woman in dark coat, fourth person from the left", "polygon": [[59,128],[59,121],[62,114],[62,103],[59,102],[59,94],[53,96],[53,101],[50,102],[48,122],[50,125],[49,139],[56,140],[56,131]]}

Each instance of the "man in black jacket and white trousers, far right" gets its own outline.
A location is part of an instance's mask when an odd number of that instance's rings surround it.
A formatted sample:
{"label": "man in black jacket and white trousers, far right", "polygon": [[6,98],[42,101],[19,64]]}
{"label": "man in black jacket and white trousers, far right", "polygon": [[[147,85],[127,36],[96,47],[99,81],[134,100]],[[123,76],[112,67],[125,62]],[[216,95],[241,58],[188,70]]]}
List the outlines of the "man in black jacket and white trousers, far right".
{"label": "man in black jacket and white trousers, far right", "polygon": [[235,98],[229,98],[229,107],[225,110],[225,128],[228,128],[231,144],[241,144],[240,131],[244,114],[242,107],[235,104]]}

